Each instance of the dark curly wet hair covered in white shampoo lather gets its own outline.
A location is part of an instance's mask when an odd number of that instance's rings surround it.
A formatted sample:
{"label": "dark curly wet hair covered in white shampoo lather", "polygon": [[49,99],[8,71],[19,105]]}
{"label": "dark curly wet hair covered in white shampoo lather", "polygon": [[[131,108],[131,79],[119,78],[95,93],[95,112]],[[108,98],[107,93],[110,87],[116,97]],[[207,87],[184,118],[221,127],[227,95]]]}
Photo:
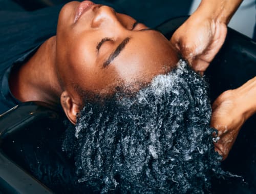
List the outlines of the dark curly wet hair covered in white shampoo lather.
{"label": "dark curly wet hair covered in white shampoo lather", "polygon": [[88,102],[62,149],[100,193],[203,193],[224,174],[204,78],[184,61],[134,95]]}

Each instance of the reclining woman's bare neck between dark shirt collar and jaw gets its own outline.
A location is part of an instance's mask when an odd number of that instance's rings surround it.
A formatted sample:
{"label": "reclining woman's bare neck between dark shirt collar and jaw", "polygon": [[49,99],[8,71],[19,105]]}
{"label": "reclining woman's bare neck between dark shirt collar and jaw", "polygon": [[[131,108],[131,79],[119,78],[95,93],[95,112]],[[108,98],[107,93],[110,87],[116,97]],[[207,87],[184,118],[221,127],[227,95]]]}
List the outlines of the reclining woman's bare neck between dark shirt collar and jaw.
{"label": "reclining woman's bare neck between dark shirt collar and jaw", "polygon": [[55,68],[56,36],[49,38],[9,79],[12,94],[20,101],[58,104],[61,87]]}

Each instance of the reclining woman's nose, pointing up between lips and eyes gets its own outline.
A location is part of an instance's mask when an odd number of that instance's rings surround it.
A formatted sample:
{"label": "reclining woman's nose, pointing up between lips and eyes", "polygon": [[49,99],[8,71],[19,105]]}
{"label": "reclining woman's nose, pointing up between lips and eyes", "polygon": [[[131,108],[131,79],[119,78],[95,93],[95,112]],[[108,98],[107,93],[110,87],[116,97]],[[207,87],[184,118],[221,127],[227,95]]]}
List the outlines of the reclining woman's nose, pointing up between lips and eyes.
{"label": "reclining woman's nose, pointing up between lips and eyes", "polygon": [[96,14],[92,20],[92,28],[98,28],[102,25],[112,26],[119,23],[116,12],[109,6],[98,6],[94,8],[94,11]]}

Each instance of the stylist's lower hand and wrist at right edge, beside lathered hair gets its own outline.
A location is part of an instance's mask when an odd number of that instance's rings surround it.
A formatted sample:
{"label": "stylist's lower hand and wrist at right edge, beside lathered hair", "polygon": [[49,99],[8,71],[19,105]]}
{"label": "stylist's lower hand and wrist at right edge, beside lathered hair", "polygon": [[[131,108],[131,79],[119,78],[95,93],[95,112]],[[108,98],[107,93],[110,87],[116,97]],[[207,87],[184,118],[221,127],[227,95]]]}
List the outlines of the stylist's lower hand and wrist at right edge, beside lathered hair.
{"label": "stylist's lower hand and wrist at right edge, beside lathered hair", "polygon": [[256,76],[235,90],[222,93],[212,104],[211,127],[220,138],[215,150],[227,158],[244,122],[256,113]]}

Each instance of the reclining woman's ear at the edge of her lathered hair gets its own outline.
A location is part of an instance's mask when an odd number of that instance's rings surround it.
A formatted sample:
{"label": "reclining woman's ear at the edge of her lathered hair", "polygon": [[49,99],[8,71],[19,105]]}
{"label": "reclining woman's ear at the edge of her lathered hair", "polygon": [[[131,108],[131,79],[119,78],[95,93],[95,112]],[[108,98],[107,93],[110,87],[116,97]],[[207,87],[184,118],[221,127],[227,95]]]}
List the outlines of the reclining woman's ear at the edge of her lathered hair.
{"label": "reclining woman's ear at the edge of her lathered hair", "polygon": [[61,93],[60,103],[70,122],[76,124],[76,114],[79,112],[79,106],[74,103],[67,91]]}

